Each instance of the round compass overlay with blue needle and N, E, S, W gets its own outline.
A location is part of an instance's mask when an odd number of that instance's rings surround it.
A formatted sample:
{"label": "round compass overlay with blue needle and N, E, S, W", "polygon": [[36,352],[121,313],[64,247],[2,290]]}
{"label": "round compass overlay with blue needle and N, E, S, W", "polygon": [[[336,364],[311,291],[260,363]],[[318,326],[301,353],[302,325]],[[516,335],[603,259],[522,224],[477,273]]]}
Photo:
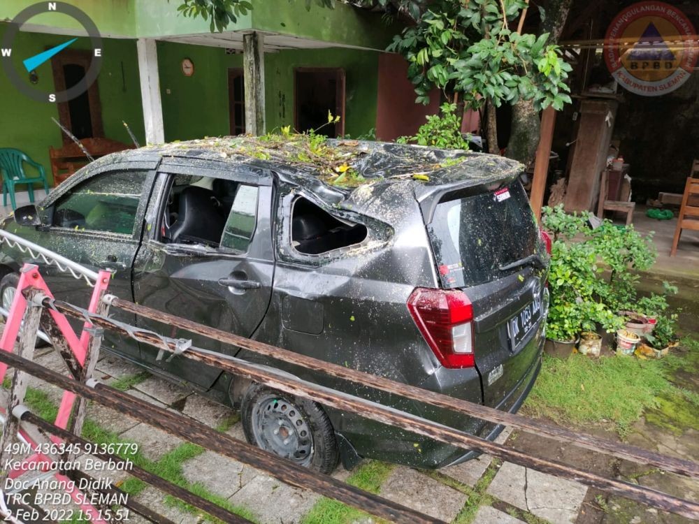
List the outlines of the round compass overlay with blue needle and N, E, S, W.
{"label": "round compass overlay with blue needle and N, E, S, W", "polygon": [[[15,51],[15,41],[20,29],[27,24],[31,25],[31,20],[34,17],[45,13],[51,15],[66,15],[73,18],[82,27],[73,31],[73,35],[82,36],[70,37],[67,36],[64,41],[58,43],[50,49],[45,49],[41,52],[31,54],[31,56],[20,56],[20,50]],[[85,37],[84,35],[87,35]],[[50,61],[64,50],[73,46],[80,40],[89,38],[89,43],[92,47],[90,66],[85,71],[85,75],[75,82],[71,87],[60,91],[45,92],[42,89],[32,85],[31,78],[35,75],[36,68]],[[84,45],[82,46],[84,48]],[[39,102],[67,102],[75,99],[89,89],[90,85],[97,79],[102,66],[102,37],[97,30],[97,26],[85,12],[69,3],[59,1],[45,1],[34,3],[31,6],[24,8],[10,22],[2,43],[0,43],[0,59],[5,74],[10,79],[10,82],[20,90],[20,92]]]}

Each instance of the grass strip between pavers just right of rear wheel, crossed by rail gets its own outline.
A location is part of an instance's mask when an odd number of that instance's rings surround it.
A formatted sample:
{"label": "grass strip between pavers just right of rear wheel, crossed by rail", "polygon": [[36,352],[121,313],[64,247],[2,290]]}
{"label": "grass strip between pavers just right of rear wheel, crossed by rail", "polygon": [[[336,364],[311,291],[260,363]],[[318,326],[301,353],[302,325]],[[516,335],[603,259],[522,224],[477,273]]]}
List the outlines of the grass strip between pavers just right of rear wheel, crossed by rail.
{"label": "grass strip between pavers just right of rear wheel, crossed by rail", "polygon": [[[370,460],[360,465],[347,479],[351,486],[363,489],[370,493],[379,493],[381,485],[386,481],[394,465],[382,463],[378,460]],[[366,521],[372,518],[363,511],[347,506],[337,500],[322,498],[316,502],[308,514],[303,517],[302,524],[348,524],[357,521]]]}

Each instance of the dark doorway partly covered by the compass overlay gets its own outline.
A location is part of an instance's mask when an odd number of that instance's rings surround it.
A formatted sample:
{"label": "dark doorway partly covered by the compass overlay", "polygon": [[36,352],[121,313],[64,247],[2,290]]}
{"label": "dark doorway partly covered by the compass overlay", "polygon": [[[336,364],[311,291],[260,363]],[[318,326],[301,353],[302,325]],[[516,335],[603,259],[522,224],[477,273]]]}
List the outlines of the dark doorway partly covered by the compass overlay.
{"label": "dark doorway partly covered by the compass overlay", "polygon": [[[53,80],[57,91],[70,89],[85,77],[92,61],[88,51],[64,51],[51,59]],[[58,104],[59,121],[75,138],[99,138],[104,136],[102,107],[97,81],[75,99]],[[62,133],[65,144],[72,140]]]}

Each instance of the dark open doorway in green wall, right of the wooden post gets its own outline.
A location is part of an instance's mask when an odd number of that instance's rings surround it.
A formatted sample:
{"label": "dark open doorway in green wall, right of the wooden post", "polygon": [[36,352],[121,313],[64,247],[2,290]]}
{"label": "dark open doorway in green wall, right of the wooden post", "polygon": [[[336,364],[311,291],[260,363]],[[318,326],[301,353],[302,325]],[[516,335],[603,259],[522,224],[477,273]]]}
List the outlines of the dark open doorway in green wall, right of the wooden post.
{"label": "dark open doorway in green wall, right of the wooden post", "polygon": [[[340,122],[328,124],[328,112],[339,116]],[[319,134],[329,138],[345,135],[344,69],[300,67],[294,70],[294,128],[299,133],[319,129]]]}

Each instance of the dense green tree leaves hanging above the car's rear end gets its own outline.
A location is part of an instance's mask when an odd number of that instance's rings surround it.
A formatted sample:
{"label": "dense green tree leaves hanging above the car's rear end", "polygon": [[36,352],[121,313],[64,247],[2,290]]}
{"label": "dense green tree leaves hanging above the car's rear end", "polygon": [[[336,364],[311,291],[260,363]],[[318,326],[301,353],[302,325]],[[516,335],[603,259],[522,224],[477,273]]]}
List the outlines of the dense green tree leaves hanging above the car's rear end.
{"label": "dense green tree leaves hanging above the car's rear end", "polygon": [[[415,2],[403,5],[415,17]],[[461,94],[472,108],[485,99],[496,107],[533,100],[537,109],[570,103],[565,79],[571,67],[560,48],[547,44],[548,34],[536,38],[510,29],[524,0],[434,0],[424,5],[415,26],[403,29],[388,48],[408,59],[417,102],[428,103],[429,92],[438,87],[449,101],[458,101]]]}

